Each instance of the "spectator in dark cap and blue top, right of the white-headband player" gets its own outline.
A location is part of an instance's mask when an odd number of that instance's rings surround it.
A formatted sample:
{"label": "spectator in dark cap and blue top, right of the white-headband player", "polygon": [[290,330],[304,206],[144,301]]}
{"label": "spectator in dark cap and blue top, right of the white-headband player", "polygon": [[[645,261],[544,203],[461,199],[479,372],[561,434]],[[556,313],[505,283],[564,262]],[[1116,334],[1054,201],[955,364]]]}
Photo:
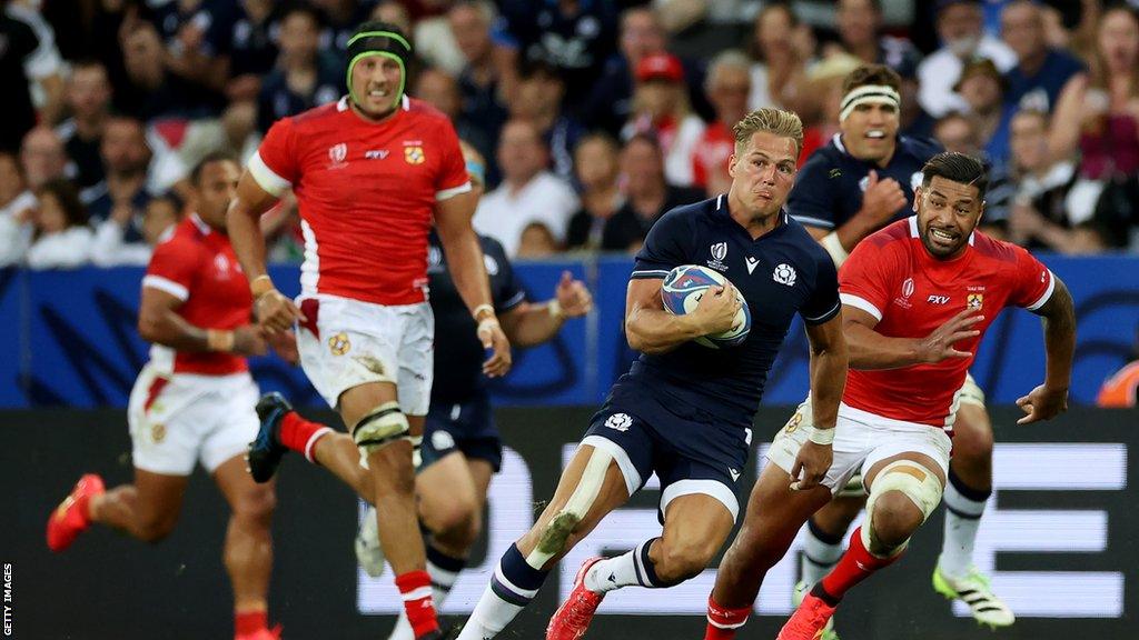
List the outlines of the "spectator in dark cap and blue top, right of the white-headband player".
{"label": "spectator in dark cap and blue top, right of the white-headband player", "polygon": [[976,59],[965,65],[953,91],[962,99],[985,159],[997,167],[1008,161],[1008,125],[1016,108],[1005,101],[1008,87],[997,65]]}

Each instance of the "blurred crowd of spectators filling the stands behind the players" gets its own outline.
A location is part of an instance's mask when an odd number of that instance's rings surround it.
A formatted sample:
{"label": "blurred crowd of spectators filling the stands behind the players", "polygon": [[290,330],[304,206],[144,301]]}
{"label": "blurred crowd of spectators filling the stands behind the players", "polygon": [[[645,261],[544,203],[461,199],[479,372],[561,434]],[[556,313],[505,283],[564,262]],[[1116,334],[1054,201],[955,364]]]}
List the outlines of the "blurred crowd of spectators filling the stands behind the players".
{"label": "blurred crowd of spectators filling the stands behind the players", "polygon": [[[902,77],[901,134],[983,157],[986,229],[1139,252],[1139,0],[3,0],[0,266],[145,264],[188,169],[345,93],[360,22],[412,35],[408,92],[486,161],[476,229],[516,257],[630,252],[727,190],[731,124],[776,105],[801,162],[843,77]],[[295,203],[263,220],[300,262]]]}

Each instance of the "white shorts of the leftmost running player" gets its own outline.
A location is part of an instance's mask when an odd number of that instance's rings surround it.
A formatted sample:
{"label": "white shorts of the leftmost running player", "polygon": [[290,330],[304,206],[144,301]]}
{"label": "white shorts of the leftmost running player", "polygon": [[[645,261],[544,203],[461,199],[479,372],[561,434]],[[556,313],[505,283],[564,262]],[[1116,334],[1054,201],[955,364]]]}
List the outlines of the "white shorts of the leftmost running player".
{"label": "white shorts of the leftmost running player", "polygon": [[257,436],[259,394],[247,371],[159,375],[147,364],[126,409],[134,467],[188,476],[198,460],[213,473],[230,458],[244,456]]}

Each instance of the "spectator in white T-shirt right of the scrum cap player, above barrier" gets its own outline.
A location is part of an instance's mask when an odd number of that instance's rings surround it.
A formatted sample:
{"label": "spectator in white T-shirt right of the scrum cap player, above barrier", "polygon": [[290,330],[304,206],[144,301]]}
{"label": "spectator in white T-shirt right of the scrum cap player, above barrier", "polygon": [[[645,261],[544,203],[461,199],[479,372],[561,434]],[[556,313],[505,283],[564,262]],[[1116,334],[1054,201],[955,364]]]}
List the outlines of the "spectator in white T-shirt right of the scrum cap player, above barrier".
{"label": "spectator in white T-shirt right of the scrum cap player, above barrier", "polygon": [[579,203],[573,189],[546,170],[549,154],[538,128],[509,121],[499,138],[498,161],[502,183],[478,203],[475,230],[501,243],[510,257],[556,253]]}

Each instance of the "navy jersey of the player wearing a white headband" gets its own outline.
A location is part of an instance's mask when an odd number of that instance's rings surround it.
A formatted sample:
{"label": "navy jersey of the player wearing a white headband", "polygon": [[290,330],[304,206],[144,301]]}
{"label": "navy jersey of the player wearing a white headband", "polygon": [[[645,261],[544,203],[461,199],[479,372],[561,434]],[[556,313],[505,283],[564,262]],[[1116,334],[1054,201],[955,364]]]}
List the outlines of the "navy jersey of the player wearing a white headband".
{"label": "navy jersey of the player wearing a white headband", "polygon": [[862,208],[862,194],[872,169],[878,172],[878,180],[893,178],[906,194],[907,206],[898,210],[890,222],[908,218],[913,205],[913,188],[921,184],[921,167],[943,150],[933,140],[899,136],[890,164],[880,167],[850,155],[842,136],[835,133],[830,142],[816,149],[798,171],[795,187],[787,197],[787,212],[808,227],[827,230],[842,227]]}

